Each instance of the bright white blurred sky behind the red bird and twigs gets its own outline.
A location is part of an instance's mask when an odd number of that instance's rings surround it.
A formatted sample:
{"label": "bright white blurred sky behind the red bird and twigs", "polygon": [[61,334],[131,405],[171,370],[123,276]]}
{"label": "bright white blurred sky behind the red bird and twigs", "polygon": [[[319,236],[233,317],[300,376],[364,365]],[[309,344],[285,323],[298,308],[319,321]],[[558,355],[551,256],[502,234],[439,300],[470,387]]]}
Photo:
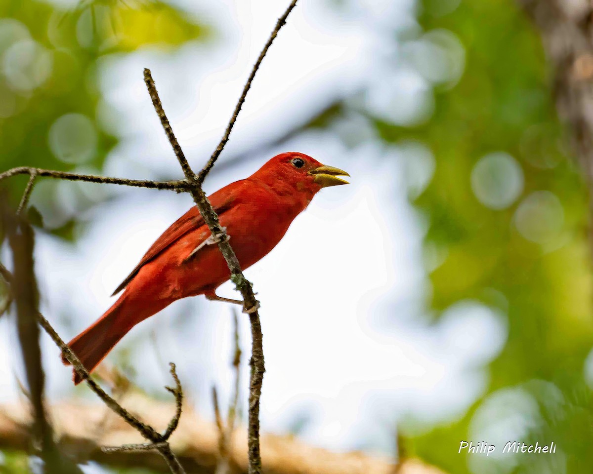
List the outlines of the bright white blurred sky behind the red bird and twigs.
{"label": "bright white blurred sky behind the red bird and twigs", "polygon": [[[215,47],[189,44],[173,54],[145,50],[105,61],[101,117],[122,136],[106,174],[181,177],[146,93],[144,67],[152,71],[186,156],[199,168],[286,2],[180,3],[206,15],[222,38]],[[398,66],[400,52],[384,46],[393,41],[381,41],[398,25],[414,22],[413,8],[412,0],[368,0],[340,11],[301,0],[257,74],[221,163],[362,88],[369,92],[361,107],[387,120],[405,123],[430,113],[430,85]],[[480,367],[502,347],[505,326],[474,302],[460,303],[436,325],[426,324],[423,302],[430,289],[422,265],[422,220],[407,202],[404,171],[410,157],[417,159],[412,166],[419,166],[422,160],[431,164],[432,156],[420,146],[382,148],[364,141],[347,146],[349,134],[372,136],[372,130],[353,117],[327,132],[262,149],[228,174],[212,175],[206,187],[213,191],[246,177],[289,150],[350,172],[352,184],[321,191],[278,247],[246,271],[262,302],[267,369],[262,424],[282,433],[310,415],[305,440],[337,450],[372,445],[388,451],[398,418],[413,414],[432,422],[463,413],[484,389],[487,374]],[[430,177],[428,172],[417,185]],[[63,192],[72,185],[64,184]],[[116,198],[88,216],[90,225],[76,245],[39,237],[43,312],[63,338],[109,307],[114,287],[190,205],[189,196],[118,189]],[[230,284],[219,293],[234,296]],[[74,327],[63,325],[65,315],[76,315]],[[248,319],[240,321],[247,354]],[[231,322],[228,305],[196,297],[134,328],[120,346],[138,342],[132,360],[136,380],[153,391],[170,383],[166,363],[175,361],[188,399],[212,416],[212,383],[222,400],[229,396]],[[0,320],[0,338],[4,402],[17,397],[14,367],[20,364],[7,318]],[[43,349],[50,396],[70,396],[70,374],[58,351],[47,339]]]}

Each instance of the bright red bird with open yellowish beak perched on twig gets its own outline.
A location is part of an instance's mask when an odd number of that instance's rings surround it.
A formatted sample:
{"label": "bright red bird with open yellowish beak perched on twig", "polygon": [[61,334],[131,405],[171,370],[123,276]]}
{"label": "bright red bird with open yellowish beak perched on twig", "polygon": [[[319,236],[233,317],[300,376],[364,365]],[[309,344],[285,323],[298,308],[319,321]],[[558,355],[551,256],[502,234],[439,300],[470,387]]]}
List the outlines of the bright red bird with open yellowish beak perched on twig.
{"label": "bright red bird with open yellowish beak perched on twig", "polygon": [[[339,175],[349,176],[311,156],[281,153],[245,180],[209,196],[241,268],[268,254],[321,188],[347,184]],[[125,289],[119,299],[68,343],[89,372],[136,324],[180,298],[203,294],[209,300],[243,304],[216,294],[230,273],[213,244],[216,241],[195,206],[162,233],[113,293]],[[63,356],[62,361],[68,364]],[[74,383],[79,382],[74,371]]]}

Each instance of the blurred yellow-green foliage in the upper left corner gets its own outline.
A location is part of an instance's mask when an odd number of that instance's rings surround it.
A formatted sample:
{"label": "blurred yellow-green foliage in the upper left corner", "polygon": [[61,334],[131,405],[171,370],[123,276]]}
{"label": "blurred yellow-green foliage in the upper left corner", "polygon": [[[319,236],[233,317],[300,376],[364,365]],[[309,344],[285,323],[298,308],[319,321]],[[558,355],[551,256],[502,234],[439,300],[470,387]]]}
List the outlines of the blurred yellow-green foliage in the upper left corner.
{"label": "blurred yellow-green foliage in the upper left corner", "polygon": [[[69,10],[37,0],[0,2],[1,171],[25,165],[100,172],[117,144],[101,123],[101,58],[208,36],[197,18],[159,1],[81,1]],[[7,182],[12,201],[26,182]],[[43,180],[33,203],[42,206],[47,229],[72,238],[76,216],[104,192]]]}

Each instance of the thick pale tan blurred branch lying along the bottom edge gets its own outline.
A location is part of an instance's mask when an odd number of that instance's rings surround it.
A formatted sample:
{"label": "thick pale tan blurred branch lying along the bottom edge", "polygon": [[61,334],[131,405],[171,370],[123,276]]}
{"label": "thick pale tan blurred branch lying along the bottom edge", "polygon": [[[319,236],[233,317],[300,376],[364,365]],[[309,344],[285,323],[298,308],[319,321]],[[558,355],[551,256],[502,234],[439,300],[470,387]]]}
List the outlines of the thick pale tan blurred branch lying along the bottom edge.
{"label": "thick pale tan blurred branch lying along the bottom edge", "polygon": [[[157,402],[138,393],[130,393],[122,400],[135,407],[142,418],[153,426],[166,424],[175,411],[174,403]],[[218,428],[215,423],[202,418],[186,406],[175,435],[171,437],[171,449],[180,462],[192,474],[214,474],[218,461]],[[102,437],[89,439],[97,424],[104,422],[105,414],[99,405],[66,402],[48,407],[60,446],[76,457],[111,466],[135,467],[163,472],[160,457],[142,453],[114,452],[106,454],[101,446],[138,444],[142,438],[122,419],[107,414],[109,428]],[[0,405],[0,449],[26,449],[28,439],[26,428],[31,418],[24,405]],[[244,427],[235,429],[229,444],[231,471],[244,474],[248,469],[246,454],[247,433]],[[388,457],[369,456],[359,451],[334,453],[310,446],[294,436],[262,434],[262,454],[266,459],[266,474],[393,474],[396,464]],[[415,459],[403,462],[399,474],[443,474],[435,467]]]}

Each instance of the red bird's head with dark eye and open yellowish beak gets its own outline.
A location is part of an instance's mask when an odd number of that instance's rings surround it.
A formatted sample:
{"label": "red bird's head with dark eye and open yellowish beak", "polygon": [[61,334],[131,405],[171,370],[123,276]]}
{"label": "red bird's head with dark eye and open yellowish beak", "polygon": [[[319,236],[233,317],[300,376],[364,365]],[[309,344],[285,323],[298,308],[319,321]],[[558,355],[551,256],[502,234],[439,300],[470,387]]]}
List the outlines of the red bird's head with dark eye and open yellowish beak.
{"label": "red bird's head with dark eye and open yellowish beak", "polygon": [[269,181],[269,185],[281,181],[297,191],[309,191],[312,194],[321,188],[348,184],[339,176],[350,176],[343,169],[323,165],[311,156],[297,152],[274,156],[255,175]]}

